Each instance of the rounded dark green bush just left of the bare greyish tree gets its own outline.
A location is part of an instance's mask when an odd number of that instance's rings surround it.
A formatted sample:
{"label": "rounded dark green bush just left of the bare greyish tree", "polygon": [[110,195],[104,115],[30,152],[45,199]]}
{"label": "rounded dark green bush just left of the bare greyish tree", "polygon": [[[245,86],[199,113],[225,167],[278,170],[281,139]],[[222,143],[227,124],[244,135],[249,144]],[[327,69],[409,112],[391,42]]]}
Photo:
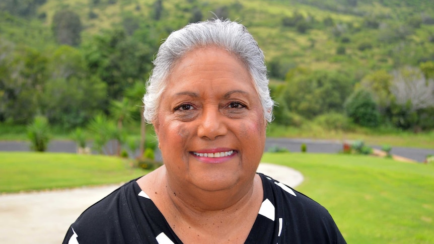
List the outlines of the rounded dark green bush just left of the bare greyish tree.
{"label": "rounded dark green bush just left of the bare greyish tree", "polygon": [[377,104],[370,92],[359,89],[345,102],[345,112],[351,120],[358,125],[377,127],[380,122],[380,114]]}

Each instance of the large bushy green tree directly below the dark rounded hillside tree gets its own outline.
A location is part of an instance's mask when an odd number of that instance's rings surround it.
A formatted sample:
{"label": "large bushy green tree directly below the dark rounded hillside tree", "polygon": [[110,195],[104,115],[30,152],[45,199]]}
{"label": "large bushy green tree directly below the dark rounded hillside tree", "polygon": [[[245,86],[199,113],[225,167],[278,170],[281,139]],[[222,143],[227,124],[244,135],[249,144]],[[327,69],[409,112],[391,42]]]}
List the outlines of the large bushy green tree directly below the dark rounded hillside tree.
{"label": "large bushy green tree directly below the dark rounded hillside tree", "polygon": [[97,111],[106,108],[107,87],[90,74],[80,50],[60,46],[53,52],[41,99],[41,113],[65,129],[83,126]]}

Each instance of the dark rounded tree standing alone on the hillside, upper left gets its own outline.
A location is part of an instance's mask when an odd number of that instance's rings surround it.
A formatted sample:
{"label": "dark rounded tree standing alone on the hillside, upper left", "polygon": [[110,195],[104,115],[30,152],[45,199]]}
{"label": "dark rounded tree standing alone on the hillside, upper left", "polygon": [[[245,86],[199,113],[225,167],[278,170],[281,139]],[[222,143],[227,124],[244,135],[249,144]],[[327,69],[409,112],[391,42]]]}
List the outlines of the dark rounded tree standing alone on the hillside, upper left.
{"label": "dark rounded tree standing alone on the hillside, upper left", "polygon": [[70,46],[81,43],[82,22],[80,16],[71,10],[57,11],[53,16],[52,31],[57,42]]}

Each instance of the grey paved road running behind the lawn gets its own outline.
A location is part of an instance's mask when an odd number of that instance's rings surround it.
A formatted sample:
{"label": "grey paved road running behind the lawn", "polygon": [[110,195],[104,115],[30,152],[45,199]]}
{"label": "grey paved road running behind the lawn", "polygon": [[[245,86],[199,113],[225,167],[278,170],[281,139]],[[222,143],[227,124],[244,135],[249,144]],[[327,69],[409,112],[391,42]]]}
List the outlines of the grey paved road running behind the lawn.
{"label": "grey paved road running behind the lawn", "polygon": [[[286,149],[299,152],[302,143],[306,143],[308,152],[311,153],[336,153],[342,149],[340,141],[333,140],[311,140],[311,139],[290,139],[290,138],[267,138],[265,150],[272,146],[285,147]],[[381,146],[374,145],[374,148],[381,149]],[[28,151],[29,143],[23,141],[0,141],[0,151]],[[48,145],[51,152],[76,152],[77,146],[73,141],[55,140]],[[392,154],[407,157],[418,162],[425,160],[426,155],[434,154],[433,149],[393,147]],[[158,158],[158,153],[157,153]]]}

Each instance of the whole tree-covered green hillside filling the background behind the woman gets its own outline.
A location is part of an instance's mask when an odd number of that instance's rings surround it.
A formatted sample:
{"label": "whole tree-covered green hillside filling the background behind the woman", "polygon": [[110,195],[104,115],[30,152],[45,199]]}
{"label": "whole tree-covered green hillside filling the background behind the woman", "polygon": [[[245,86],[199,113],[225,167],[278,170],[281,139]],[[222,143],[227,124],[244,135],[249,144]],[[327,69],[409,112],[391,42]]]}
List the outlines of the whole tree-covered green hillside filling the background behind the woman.
{"label": "whole tree-covered green hillside filling the background behind the woman", "polygon": [[0,123],[139,120],[162,39],[211,18],[264,50],[273,123],[434,129],[432,0],[2,0]]}

